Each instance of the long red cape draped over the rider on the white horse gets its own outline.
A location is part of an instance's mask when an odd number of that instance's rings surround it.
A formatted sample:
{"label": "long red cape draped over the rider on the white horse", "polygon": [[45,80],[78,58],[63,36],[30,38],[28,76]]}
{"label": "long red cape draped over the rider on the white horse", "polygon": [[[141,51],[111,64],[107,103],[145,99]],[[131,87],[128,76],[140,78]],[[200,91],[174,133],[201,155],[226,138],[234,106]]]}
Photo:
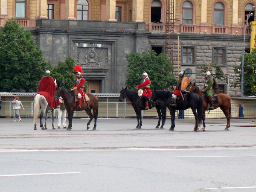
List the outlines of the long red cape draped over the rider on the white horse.
{"label": "long red cape draped over the rider on the white horse", "polygon": [[48,104],[51,106],[51,108],[57,108],[58,105],[60,105],[60,102],[58,99],[56,102],[54,102],[52,100],[55,89],[56,89],[56,86],[55,86],[55,82],[52,77],[49,77],[49,78],[42,77],[41,78],[37,94],[43,95],[46,98]]}

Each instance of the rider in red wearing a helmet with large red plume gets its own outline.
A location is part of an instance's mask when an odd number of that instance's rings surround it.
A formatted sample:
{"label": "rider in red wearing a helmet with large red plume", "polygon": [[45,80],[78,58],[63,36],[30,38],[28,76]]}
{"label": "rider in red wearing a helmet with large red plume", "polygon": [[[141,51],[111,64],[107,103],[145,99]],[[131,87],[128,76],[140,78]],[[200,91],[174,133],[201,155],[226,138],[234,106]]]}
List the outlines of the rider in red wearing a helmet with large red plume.
{"label": "rider in red wearing a helmet with large red plume", "polygon": [[[76,65],[79,66],[79,65]],[[78,99],[78,110],[77,111],[81,111],[81,104],[82,104],[82,98],[85,99],[85,92],[84,92],[84,83],[85,83],[85,79],[82,77],[81,73],[83,73],[82,68],[79,67],[75,67],[76,68],[76,82],[74,84],[74,86],[72,87],[72,90],[78,90],[78,95],[77,95],[77,99]],[[75,69],[74,68],[74,69]]]}

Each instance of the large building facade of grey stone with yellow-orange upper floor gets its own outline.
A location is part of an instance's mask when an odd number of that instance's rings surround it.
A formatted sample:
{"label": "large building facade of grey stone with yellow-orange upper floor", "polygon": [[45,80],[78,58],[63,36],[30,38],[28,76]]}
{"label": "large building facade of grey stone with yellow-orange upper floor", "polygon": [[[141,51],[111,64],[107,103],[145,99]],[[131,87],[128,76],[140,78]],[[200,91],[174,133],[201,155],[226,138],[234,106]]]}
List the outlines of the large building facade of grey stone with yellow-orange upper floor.
{"label": "large building facade of grey stone with yellow-orange upper floor", "polygon": [[[172,3],[173,73],[177,75],[180,61],[180,70],[197,73],[189,79],[202,86],[204,74],[198,74],[197,64],[214,61],[229,79],[228,84],[218,82],[221,90],[240,95],[240,88],[229,86],[239,79],[233,66],[241,64],[243,40],[246,49],[255,44],[253,23],[245,27],[245,21],[250,11],[248,24],[255,20],[256,0]],[[125,86],[126,53],[165,52],[165,0],[0,0],[0,10],[0,25],[17,19],[32,32],[53,65],[71,55],[84,70],[89,92],[119,93]]]}

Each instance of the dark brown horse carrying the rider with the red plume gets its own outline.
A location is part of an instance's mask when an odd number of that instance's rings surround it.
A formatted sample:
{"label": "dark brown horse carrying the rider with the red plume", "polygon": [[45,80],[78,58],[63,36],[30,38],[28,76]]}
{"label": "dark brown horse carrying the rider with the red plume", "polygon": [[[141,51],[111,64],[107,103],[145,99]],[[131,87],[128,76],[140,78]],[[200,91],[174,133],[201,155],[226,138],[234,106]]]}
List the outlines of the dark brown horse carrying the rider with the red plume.
{"label": "dark brown horse carrying the rider with the red plume", "polygon": [[[93,130],[95,130],[96,125],[97,125],[97,117],[98,117],[98,97],[96,97],[95,95],[93,95],[91,93],[86,93],[86,94],[90,98],[90,101],[82,102],[81,111],[85,110],[86,113],[90,117],[90,120],[87,122],[87,129],[90,128],[90,126],[89,126],[90,122],[94,118]],[[73,95],[73,92],[68,89],[57,87],[54,92],[53,100],[56,101],[56,99],[58,99],[59,96],[61,96],[63,98],[64,105],[67,109],[67,114],[68,114],[67,130],[71,130],[72,129],[73,113],[78,108],[78,102],[74,102],[75,96]],[[93,114],[91,113],[91,109],[93,109]]]}

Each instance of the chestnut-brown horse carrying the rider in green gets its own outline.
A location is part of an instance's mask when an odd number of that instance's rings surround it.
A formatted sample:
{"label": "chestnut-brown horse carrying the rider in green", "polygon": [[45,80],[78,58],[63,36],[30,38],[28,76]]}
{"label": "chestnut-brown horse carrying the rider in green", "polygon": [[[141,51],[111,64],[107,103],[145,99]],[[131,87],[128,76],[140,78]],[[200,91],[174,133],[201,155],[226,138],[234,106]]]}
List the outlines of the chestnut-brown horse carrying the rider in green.
{"label": "chestnut-brown horse carrying the rider in green", "polygon": [[[199,87],[194,83],[192,84],[190,82],[190,87],[189,87],[189,93],[197,93],[199,95],[202,96],[203,98],[203,114],[204,114],[204,119],[205,119],[205,111],[207,111],[208,108],[208,103],[205,101],[204,98],[204,93],[199,89]],[[231,115],[231,98],[229,95],[224,94],[224,93],[219,93],[217,94],[218,96],[218,103],[214,104],[214,109],[217,109],[218,107],[221,108],[221,110],[223,111],[224,115],[227,118],[227,125],[225,130],[228,130],[228,128],[230,127],[230,115]],[[204,123],[204,121],[203,121]],[[204,128],[202,128],[201,130],[205,131],[205,123],[204,123]]]}

